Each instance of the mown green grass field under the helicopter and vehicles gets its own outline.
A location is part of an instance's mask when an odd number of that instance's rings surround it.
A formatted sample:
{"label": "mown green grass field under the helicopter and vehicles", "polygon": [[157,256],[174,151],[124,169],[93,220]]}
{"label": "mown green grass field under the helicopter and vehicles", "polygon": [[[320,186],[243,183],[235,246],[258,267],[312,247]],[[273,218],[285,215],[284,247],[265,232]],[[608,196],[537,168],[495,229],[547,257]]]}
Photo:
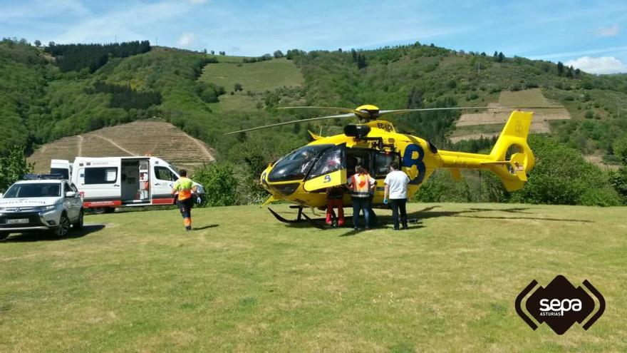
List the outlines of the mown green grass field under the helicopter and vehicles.
{"label": "mown green grass field under the helicopter and vehicles", "polygon": [[[285,225],[245,206],[194,210],[193,232],[155,210],[90,215],[66,239],[12,235],[0,352],[627,350],[626,208],[409,210],[423,222],[400,232]],[[605,297],[588,331],[533,331],[515,313],[529,282],[559,274]]]}

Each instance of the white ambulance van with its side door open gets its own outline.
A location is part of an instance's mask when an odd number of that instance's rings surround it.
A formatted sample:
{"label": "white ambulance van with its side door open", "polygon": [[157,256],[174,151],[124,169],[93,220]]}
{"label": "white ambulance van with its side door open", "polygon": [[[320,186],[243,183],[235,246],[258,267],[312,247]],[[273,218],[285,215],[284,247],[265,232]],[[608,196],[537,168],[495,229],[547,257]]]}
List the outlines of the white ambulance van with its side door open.
{"label": "white ambulance van with its side door open", "polygon": [[[51,173],[61,174],[78,188],[83,207],[95,213],[113,212],[125,206],[173,205],[172,186],[179,173],[172,165],[152,156],[77,157],[51,160]],[[199,197],[204,188],[199,183]]]}

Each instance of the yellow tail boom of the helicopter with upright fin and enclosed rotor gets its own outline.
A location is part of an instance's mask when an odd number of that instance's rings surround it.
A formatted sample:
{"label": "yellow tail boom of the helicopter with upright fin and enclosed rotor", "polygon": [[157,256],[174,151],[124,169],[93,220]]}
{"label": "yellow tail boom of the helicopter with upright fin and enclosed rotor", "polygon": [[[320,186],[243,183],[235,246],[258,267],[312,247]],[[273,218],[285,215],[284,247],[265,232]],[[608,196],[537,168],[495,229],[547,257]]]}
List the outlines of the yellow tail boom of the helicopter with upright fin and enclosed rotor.
{"label": "yellow tail boom of the helicopter with upright fin and enclosed rotor", "polygon": [[455,174],[460,168],[487,169],[499,176],[508,191],[521,189],[535,163],[527,144],[532,118],[531,112],[512,112],[489,155],[440,151],[442,167]]}

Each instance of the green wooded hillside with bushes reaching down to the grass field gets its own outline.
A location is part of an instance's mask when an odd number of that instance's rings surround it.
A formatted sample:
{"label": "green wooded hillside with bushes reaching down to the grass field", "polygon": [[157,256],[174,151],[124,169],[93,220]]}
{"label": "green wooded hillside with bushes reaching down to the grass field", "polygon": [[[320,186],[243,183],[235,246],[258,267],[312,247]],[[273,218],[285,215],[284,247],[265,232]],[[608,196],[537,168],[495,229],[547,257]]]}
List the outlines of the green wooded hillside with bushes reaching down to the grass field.
{"label": "green wooded hillside with bushes reaching down to the grass field", "polygon": [[[620,197],[627,203],[627,166],[604,173],[581,158],[614,168],[627,165],[625,74],[594,76],[562,63],[419,43],[370,51],[294,49],[246,58],[147,41],[46,47],[26,40],[0,42],[0,157],[10,149],[26,148],[30,154],[64,136],[156,117],[214,148],[218,162],[207,166],[212,171],[206,175],[237,178],[237,190],[229,189],[237,194],[228,198],[234,203],[263,200],[266,193],[255,181],[259,173],[306,143],[308,130],[341,133],[349,121],[225,132],[329,113],[277,110],[280,106],[364,103],[382,109],[495,107],[391,119],[398,131],[469,152],[489,150],[509,114],[498,107],[564,107],[557,113],[536,111],[532,133],[549,138],[530,139],[539,163],[522,192],[509,195],[499,183],[477,181],[472,173],[461,184],[436,173],[418,194],[420,200],[616,205]],[[549,168],[541,168],[543,163]],[[475,181],[478,188],[470,186]],[[488,192],[477,196],[472,188]]]}

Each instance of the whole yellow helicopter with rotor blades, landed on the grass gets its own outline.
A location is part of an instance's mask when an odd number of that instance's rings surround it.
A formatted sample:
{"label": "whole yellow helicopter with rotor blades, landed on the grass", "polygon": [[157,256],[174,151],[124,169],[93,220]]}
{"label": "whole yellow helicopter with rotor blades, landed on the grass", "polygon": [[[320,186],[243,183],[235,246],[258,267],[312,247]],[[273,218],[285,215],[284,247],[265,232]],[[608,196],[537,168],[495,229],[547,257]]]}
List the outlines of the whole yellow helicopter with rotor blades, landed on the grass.
{"label": "whole yellow helicopter with rotor blades, landed on the grass", "polygon": [[[298,148],[283,158],[270,163],[261,173],[261,185],[271,194],[264,203],[276,200],[296,204],[298,218],[286,220],[273,210],[270,212],[282,222],[299,222],[301,217],[311,220],[302,213],[304,207],[325,208],[326,189],[345,185],[347,178],[355,173],[356,165],[366,167],[377,180],[372,201],[373,207],[383,207],[383,180],[388,166],[397,161],[410,178],[408,198],[425,183],[437,168],[447,168],[456,179],[461,178],[460,169],[486,169],[498,175],[508,191],[519,190],[527,181],[527,173],[534,168],[534,155],[527,144],[527,135],[532,123],[532,112],[512,111],[502,133],[489,154],[464,153],[439,150],[423,138],[397,133],[392,123],[381,120],[383,116],[413,111],[435,111],[452,109],[477,109],[487,107],[453,107],[398,109],[382,111],[377,106],[364,105],[355,109],[337,107],[285,107],[282,109],[333,109],[343,114],[321,116],[296,121],[287,121],[268,126],[259,126],[231,133],[255,131],[304,121],[329,118],[356,117],[358,124],[348,125],[344,133],[333,136],[309,134],[311,143]],[[525,107],[554,108],[554,107]],[[506,157],[515,150],[509,160]],[[343,205],[351,205],[349,195],[344,195]]]}

